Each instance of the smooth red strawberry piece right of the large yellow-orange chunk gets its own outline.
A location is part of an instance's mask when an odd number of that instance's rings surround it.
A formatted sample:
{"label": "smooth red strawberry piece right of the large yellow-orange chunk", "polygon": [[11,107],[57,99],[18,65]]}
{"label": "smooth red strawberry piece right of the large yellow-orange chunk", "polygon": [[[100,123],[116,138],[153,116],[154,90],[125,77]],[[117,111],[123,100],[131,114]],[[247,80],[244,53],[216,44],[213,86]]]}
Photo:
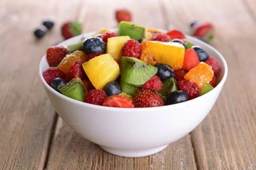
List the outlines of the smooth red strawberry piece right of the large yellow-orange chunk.
{"label": "smooth red strawberry piece right of the large yellow-orange chunk", "polygon": [[185,57],[182,66],[183,70],[189,71],[198,66],[199,62],[198,55],[193,48],[188,48],[185,50]]}

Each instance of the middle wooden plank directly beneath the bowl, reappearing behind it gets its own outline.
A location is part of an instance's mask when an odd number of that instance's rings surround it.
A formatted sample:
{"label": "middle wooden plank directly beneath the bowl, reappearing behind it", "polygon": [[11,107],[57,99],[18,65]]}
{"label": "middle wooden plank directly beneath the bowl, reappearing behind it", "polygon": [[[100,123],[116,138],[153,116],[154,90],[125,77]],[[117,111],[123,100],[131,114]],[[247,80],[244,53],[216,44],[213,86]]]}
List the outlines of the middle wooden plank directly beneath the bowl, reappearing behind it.
{"label": "middle wooden plank directly beneath the bowl, reappearing behind it", "polygon": [[[70,1],[66,2],[67,4]],[[72,6],[72,5],[70,5]],[[164,16],[160,13],[160,3],[152,1],[99,1],[83,3],[77,11],[76,19],[84,25],[84,32],[99,28],[115,28],[117,26],[114,10],[117,7],[127,7],[133,14],[133,22],[148,28],[165,28]],[[94,10],[87,9],[97,9]],[[65,11],[62,11],[65,13]],[[60,17],[61,18],[61,17]],[[64,169],[154,169],[177,170],[196,169],[190,136],[171,144],[165,150],[153,156],[144,158],[124,158],[109,154],[71,130],[61,119],[58,119],[57,129],[50,149],[47,170]]]}

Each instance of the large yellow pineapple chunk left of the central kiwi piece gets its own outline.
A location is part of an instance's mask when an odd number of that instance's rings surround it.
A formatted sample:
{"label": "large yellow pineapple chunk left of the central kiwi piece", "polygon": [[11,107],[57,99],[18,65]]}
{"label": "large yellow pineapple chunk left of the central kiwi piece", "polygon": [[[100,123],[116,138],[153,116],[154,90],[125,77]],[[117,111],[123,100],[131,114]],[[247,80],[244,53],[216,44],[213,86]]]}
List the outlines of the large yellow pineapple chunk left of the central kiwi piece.
{"label": "large yellow pineapple chunk left of the central kiwi piece", "polygon": [[102,89],[120,74],[119,65],[110,54],[90,59],[83,64],[84,71],[96,89]]}

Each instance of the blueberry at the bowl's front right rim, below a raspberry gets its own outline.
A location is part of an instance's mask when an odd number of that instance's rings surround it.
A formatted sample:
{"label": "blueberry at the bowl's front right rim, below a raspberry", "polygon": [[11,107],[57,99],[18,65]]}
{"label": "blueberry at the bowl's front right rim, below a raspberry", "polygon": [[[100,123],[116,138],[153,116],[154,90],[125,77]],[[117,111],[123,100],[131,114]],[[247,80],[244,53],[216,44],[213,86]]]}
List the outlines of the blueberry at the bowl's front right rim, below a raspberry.
{"label": "blueberry at the bowl's front right rim, below a raspberry", "polygon": [[173,105],[176,103],[186,102],[189,100],[189,95],[185,91],[173,91],[167,96],[165,105]]}

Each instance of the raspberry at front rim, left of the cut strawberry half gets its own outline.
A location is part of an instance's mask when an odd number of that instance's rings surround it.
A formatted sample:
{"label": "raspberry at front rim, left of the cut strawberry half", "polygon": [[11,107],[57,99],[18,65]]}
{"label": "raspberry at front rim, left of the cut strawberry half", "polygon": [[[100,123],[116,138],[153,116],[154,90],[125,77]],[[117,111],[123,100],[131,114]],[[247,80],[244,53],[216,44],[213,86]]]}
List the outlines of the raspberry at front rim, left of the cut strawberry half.
{"label": "raspberry at front rim, left of the cut strawberry half", "polygon": [[104,100],[107,98],[107,94],[105,94],[105,91],[100,89],[93,89],[90,90],[85,96],[84,96],[84,102],[90,103],[93,105],[103,105]]}

